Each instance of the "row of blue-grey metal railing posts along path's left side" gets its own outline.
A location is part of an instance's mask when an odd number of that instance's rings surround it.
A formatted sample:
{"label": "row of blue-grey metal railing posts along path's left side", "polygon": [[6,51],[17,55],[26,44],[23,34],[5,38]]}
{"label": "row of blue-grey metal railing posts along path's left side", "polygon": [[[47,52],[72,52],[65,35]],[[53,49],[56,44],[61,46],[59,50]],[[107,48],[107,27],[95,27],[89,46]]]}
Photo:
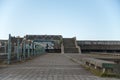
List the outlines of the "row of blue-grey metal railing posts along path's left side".
{"label": "row of blue-grey metal railing posts along path's left side", "polygon": [[20,40],[20,37],[15,39],[13,41],[11,34],[9,34],[8,42],[4,45],[5,51],[2,54],[6,56],[7,64],[11,64],[12,61],[19,62],[31,59],[45,53],[44,47],[36,46],[33,40],[27,40],[25,37],[22,40]]}

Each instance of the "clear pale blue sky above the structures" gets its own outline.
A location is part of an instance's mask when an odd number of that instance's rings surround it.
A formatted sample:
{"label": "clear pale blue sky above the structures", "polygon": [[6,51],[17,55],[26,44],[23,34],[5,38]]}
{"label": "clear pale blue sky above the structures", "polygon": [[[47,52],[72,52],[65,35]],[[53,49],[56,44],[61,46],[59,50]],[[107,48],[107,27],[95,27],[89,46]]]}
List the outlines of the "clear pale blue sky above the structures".
{"label": "clear pale blue sky above the structures", "polygon": [[0,39],[8,34],[120,40],[120,0],[0,0]]}

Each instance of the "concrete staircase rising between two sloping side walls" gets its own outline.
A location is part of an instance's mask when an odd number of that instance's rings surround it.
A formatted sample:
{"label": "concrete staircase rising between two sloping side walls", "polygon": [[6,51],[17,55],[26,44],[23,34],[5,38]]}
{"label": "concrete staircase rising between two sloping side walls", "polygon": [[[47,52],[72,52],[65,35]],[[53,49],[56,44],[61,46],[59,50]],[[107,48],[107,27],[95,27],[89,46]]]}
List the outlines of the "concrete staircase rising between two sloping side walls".
{"label": "concrete staircase rising between two sloping side walls", "polygon": [[63,38],[64,53],[80,53],[76,38]]}

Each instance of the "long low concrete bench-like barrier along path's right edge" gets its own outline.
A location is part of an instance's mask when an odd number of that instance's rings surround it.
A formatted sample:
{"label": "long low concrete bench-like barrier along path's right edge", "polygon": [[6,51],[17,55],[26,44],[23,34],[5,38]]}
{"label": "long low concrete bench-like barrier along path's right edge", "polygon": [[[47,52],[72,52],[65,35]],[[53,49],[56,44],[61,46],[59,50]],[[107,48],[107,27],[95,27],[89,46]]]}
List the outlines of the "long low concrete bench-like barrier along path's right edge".
{"label": "long low concrete bench-like barrier along path's right edge", "polygon": [[79,55],[66,55],[67,57],[71,58],[72,60],[74,60],[75,62],[98,70],[100,71],[100,73],[105,73],[105,72],[114,72],[114,68],[117,65],[116,63],[112,62],[112,61],[106,61],[106,60],[100,60],[100,59],[96,59],[96,58],[88,58],[82,54]]}

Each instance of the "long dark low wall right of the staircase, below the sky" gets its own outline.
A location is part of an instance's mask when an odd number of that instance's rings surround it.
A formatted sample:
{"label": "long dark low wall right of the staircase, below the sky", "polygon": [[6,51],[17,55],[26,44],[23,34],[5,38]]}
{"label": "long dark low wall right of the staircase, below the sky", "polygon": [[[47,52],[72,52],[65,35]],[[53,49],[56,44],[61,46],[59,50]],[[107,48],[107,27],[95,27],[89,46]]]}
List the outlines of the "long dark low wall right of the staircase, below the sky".
{"label": "long dark low wall right of the staircase, below the sky", "polygon": [[120,41],[77,41],[82,52],[120,52]]}

